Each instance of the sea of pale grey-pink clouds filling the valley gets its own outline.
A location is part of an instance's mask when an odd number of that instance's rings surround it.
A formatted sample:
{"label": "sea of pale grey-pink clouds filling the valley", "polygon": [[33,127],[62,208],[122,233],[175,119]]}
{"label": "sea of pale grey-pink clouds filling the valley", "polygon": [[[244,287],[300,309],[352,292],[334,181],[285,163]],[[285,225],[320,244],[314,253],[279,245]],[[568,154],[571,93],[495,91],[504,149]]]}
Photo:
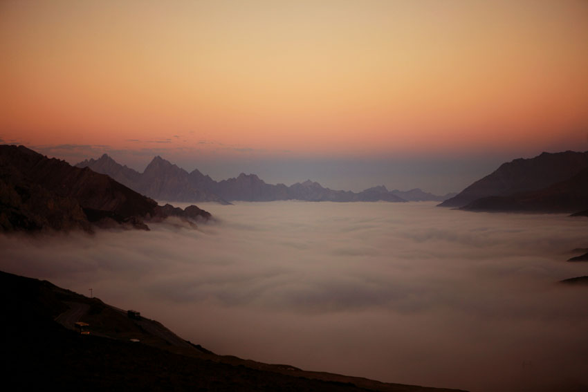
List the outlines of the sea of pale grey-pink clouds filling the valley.
{"label": "sea of pale grey-pink clouds filling the valley", "polygon": [[200,205],[151,231],[0,236],[0,269],[219,354],[473,391],[588,384],[588,221],[434,203]]}

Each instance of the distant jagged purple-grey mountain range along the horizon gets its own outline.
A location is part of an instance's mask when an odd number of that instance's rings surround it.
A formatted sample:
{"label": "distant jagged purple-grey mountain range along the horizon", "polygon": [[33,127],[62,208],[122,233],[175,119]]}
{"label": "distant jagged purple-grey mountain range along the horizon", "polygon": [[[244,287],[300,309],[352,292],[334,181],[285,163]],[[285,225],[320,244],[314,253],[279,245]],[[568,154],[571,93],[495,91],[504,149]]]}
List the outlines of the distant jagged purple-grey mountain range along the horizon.
{"label": "distant jagged purple-grey mountain range along the horizon", "polygon": [[272,185],[261,180],[255,174],[241,173],[237,178],[215,181],[202,174],[198,169],[188,173],[177,165],[156,156],[143,173],[120,165],[107,154],[98,160],[89,159],[77,163],[76,167],[89,167],[98,173],[107,174],[118,182],[127,185],[141,194],[156,200],[181,202],[214,201],[228,204],[230,201],[378,201],[389,202],[445,200],[452,196],[436,196],[412,189],[407,192],[394,190],[390,192],[385,186],[371,187],[362,192],[340,191],[323,187],[319,183],[306,180],[291,186]]}

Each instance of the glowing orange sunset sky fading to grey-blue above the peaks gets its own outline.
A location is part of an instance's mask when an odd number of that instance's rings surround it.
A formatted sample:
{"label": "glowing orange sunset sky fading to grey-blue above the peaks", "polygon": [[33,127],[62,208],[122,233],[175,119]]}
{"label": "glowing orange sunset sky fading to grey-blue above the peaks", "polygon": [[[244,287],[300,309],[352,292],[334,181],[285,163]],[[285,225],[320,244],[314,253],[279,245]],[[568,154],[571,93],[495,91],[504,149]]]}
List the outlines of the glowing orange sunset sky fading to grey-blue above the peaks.
{"label": "glowing orange sunset sky fading to grey-blue above the peaks", "polygon": [[588,149],[588,1],[2,1],[0,142],[463,189]]}

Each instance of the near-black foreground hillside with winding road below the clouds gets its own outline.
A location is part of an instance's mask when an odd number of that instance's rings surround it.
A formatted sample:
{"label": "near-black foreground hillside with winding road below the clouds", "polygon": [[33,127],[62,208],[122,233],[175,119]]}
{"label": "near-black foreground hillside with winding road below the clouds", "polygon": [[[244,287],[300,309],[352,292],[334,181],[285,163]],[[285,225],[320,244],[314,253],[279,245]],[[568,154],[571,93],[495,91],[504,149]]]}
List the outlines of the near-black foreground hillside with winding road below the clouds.
{"label": "near-black foreground hillside with winding road below the clouds", "polygon": [[[130,319],[99,299],[6,272],[0,296],[3,382],[19,390],[455,391],[214,355],[157,321]],[[66,328],[75,314],[90,324],[90,335]]]}

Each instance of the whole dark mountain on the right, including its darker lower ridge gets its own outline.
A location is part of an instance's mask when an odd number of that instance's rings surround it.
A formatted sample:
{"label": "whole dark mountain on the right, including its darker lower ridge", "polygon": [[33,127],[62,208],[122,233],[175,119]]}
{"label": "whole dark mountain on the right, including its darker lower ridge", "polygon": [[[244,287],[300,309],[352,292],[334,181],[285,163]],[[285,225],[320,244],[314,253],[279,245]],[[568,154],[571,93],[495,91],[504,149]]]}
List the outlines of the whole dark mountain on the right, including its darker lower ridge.
{"label": "whole dark mountain on the right, including its darker lower ridge", "polygon": [[515,159],[440,206],[511,212],[588,209],[587,168],[588,151],[542,153],[531,159]]}

